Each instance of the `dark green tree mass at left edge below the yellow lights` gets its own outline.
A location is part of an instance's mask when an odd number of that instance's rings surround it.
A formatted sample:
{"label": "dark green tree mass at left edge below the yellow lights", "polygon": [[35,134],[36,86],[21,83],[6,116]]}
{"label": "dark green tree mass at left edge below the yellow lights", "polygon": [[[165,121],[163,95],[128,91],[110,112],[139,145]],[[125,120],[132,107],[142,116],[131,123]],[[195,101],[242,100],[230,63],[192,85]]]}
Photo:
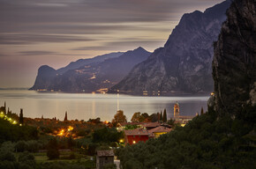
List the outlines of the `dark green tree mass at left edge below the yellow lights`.
{"label": "dark green tree mass at left edge below the yellow lights", "polygon": [[31,126],[13,125],[0,118],[0,143],[4,141],[34,140],[38,138],[38,131]]}

